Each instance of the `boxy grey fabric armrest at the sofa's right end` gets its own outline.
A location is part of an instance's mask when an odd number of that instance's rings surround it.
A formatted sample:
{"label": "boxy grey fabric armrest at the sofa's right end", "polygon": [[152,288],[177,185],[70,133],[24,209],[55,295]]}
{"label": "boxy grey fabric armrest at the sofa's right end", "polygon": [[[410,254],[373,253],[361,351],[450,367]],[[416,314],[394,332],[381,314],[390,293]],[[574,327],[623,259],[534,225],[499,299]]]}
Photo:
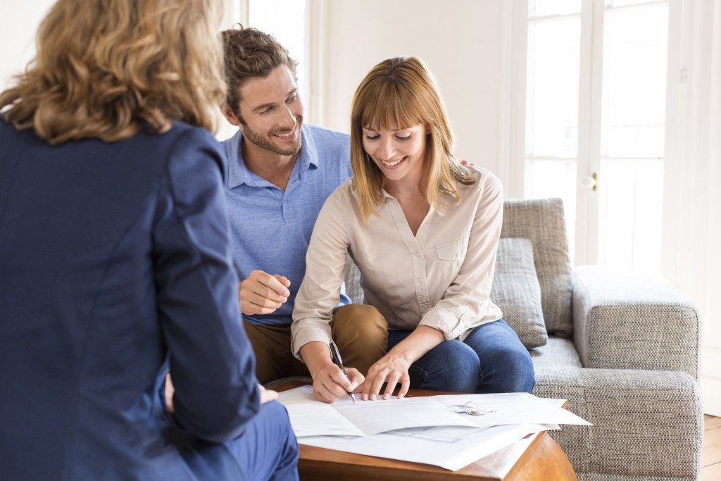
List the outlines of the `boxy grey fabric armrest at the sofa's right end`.
{"label": "boxy grey fabric armrest at the sofa's right end", "polygon": [[699,313],[659,276],[588,265],[573,273],[574,343],[583,366],[698,375]]}

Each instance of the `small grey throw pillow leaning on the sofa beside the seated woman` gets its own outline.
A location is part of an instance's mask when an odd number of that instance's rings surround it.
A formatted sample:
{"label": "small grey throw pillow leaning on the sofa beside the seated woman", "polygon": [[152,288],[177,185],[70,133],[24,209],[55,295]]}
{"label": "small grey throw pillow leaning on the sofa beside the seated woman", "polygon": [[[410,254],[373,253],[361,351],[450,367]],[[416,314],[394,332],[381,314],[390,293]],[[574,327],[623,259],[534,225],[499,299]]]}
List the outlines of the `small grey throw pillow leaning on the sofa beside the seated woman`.
{"label": "small grey throw pillow leaning on the sofa beside the seated woman", "polygon": [[528,239],[500,239],[496,254],[491,301],[503,311],[526,348],[548,339],[541,309],[541,286],[534,267],[534,246]]}

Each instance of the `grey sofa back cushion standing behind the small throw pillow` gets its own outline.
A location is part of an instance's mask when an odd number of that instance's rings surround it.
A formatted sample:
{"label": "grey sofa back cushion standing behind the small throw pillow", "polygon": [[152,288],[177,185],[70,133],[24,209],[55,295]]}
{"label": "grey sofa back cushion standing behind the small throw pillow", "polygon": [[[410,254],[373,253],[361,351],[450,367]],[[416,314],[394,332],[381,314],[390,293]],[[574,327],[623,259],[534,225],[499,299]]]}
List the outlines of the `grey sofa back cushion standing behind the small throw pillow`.
{"label": "grey sofa back cushion standing behind the small throw pillow", "polygon": [[534,244],[541,306],[550,335],[569,337],[572,274],[561,199],[510,199],[503,204],[500,237],[525,237]]}

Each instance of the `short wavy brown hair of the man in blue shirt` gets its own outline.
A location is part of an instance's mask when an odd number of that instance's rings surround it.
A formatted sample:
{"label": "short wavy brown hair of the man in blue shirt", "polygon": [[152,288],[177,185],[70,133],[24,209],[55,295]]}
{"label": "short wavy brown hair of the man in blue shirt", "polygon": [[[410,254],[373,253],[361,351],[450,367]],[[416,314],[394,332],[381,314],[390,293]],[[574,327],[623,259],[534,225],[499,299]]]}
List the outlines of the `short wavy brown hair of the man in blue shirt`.
{"label": "short wavy brown hair of the man in blue shirt", "polygon": [[273,35],[255,28],[225,30],[223,50],[228,94],[226,105],[240,118],[240,87],[252,77],[267,77],[276,67],[285,65],[296,76],[296,66],[288,50]]}

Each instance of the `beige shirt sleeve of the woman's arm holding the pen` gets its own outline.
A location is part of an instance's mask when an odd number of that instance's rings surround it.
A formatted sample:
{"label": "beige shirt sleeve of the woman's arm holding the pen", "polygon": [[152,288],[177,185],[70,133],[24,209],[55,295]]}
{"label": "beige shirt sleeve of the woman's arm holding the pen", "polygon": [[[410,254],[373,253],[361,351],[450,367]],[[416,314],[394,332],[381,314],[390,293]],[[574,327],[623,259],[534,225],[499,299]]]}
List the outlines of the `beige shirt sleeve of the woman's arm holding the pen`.
{"label": "beige shirt sleeve of the woman's arm holding the pen", "polygon": [[293,307],[291,348],[303,360],[301,348],[307,343],[332,340],[330,321],[343,283],[348,229],[345,216],[353,215],[342,186],[321,209],[306,254],[306,274]]}

